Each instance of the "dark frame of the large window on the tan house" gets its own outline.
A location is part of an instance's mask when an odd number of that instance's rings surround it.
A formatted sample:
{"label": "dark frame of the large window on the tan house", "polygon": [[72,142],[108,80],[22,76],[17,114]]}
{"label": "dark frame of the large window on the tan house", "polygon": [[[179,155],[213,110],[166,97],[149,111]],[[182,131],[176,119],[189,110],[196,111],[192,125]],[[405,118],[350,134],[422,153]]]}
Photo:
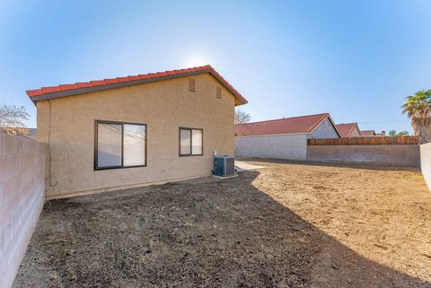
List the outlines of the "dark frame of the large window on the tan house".
{"label": "dark frame of the large window on the tan house", "polygon": [[[114,124],[121,125],[121,165],[116,166],[103,166],[98,167],[98,124]],[[145,164],[144,165],[132,165],[132,166],[124,166],[124,125],[136,125],[136,126],[145,126]],[[136,168],[136,167],[146,167],[148,164],[148,126],[144,123],[134,123],[134,122],[119,122],[119,121],[110,121],[110,120],[94,120],[94,161],[93,161],[93,169],[94,170],[111,170],[111,169],[127,169],[127,168]]]}

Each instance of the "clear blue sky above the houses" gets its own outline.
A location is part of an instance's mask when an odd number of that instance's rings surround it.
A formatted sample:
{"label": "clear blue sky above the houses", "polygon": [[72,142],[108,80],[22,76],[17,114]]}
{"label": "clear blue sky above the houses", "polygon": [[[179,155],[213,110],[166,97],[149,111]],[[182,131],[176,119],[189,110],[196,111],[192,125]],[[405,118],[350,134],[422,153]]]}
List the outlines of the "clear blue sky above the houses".
{"label": "clear blue sky above the houses", "polygon": [[411,131],[404,97],[431,88],[431,1],[0,0],[0,101],[25,90],[213,65],[253,121],[330,112]]}

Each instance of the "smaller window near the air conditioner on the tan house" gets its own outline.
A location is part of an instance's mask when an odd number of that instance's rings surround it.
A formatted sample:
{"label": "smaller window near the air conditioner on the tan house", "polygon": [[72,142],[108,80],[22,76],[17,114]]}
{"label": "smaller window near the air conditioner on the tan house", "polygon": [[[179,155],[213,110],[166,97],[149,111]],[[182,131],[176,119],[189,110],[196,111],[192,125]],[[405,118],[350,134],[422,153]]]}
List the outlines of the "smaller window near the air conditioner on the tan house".
{"label": "smaller window near the air conditioner on the tan house", "polygon": [[180,128],[180,156],[198,156],[203,154],[202,129]]}

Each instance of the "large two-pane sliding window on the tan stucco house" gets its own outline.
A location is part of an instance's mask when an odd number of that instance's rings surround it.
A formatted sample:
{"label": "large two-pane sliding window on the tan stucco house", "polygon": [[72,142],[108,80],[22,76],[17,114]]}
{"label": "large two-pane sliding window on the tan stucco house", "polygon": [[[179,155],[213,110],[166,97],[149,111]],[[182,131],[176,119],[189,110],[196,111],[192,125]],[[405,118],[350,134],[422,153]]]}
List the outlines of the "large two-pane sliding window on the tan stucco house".
{"label": "large two-pane sliding window on the tan stucco house", "polygon": [[146,125],[95,121],[94,170],[146,166]]}

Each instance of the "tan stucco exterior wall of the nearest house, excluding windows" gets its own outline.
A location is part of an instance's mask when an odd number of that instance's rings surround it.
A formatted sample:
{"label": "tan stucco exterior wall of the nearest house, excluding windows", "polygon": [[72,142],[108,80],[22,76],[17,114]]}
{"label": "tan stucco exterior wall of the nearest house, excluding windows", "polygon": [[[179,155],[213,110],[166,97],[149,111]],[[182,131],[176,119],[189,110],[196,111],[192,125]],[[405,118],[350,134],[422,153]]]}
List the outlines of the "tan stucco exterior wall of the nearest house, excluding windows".
{"label": "tan stucco exterior wall of the nearest house, excluding windows", "polygon": [[[51,155],[47,197],[210,175],[214,151],[233,154],[234,97],[211,74],[190,78],[196,92],[180,77],[37,102],[37,139]],[[146,124],[147,167],[93,170],[96,119]],[[203,156],[179,156],[179,127],[203,129]]]}

